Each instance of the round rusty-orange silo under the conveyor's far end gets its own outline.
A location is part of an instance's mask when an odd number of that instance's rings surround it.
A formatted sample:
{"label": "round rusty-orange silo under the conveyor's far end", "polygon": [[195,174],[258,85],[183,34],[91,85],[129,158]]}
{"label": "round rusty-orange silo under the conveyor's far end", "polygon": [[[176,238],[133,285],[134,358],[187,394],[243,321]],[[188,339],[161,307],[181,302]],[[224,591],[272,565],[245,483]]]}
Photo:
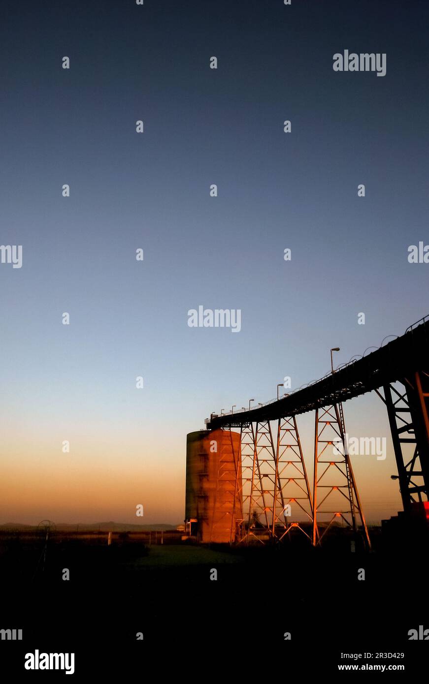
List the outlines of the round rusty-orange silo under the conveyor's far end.
{"label": "round rusty-orange silo under the conveyor's far end", "polygon": [[240,436],[190,432],[186,441],[185,525],[200,542],[233,542],[242,514]]}

